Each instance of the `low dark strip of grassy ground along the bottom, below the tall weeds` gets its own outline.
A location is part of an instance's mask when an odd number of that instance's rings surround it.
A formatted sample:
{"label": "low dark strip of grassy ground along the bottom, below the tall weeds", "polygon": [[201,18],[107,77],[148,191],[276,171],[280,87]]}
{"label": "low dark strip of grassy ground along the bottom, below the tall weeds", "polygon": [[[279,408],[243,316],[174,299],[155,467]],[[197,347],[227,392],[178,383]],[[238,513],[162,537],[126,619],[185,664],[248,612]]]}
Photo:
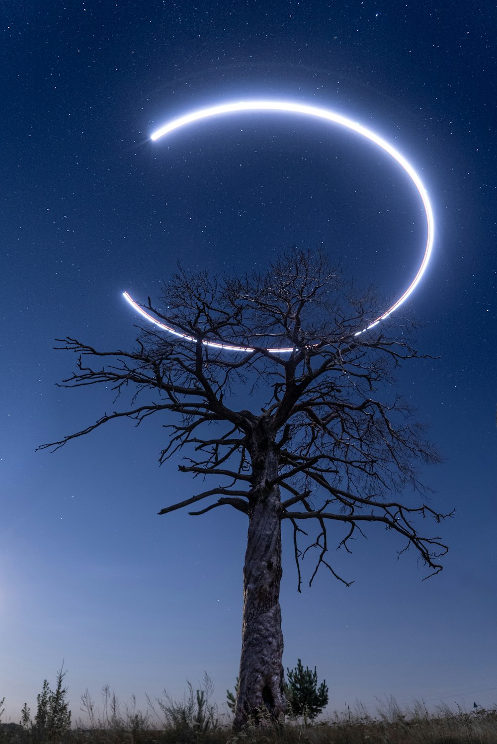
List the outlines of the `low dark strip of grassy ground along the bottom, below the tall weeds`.
{"label": "low dark strip of grassy ground along the bottom, below the tall weeds", "polygon": [[[167,725],[151,722],[141,714],[135,714],[130,722],[115,718],[105,725],[99,723],[83,728],[83,723],[78,722],[77,728],[57,741],[60,744],[497,744],[497,707],[471,713],[439,708],[429,713],[422,705],[415,705],[403,713],[394,700],[380,708],[375,717],[356,711],[350,714],[350,719],[336,714],[314,725],[287,722],[274,728],[268,724],[263,729],[248,727],[241,734],[233,734],[228,725],[219,725],[216,720],[207,728],[200,727],[187,715]],[[31,732],[12,726],[0,730],[0,742],[36,744],[38,740]],[[46,744],[55,743],[47,740]]]}

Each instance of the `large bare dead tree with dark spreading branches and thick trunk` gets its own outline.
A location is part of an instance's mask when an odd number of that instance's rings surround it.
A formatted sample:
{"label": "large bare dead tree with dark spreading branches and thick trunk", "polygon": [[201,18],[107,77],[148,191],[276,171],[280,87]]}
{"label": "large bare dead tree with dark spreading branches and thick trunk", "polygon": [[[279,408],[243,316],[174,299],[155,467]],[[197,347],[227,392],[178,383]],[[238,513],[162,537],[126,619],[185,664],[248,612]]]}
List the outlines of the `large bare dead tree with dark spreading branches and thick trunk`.
{"label": "large bare dead tree with dark spreading branches and thick trunk", "polygon": [[[230,506],[249,518],[234,728],[264,709],[279,721],[285,711],[283,519],[293,529],[298,591],[301,557],[310,548],[317,551],[310,583],[324,567],[348,586],[328,558],[330,542],[350,552],[350,541],[368,523],[400,536],[400,553],[414,548],[429,575],[442,568],[438,559],[446,545],[421,534],[414,522],[440,522],[447,515],[426,500],[400,501],[405,486],[423,493],[414,466],[435,463],[437,454],[399,397],[379,400],[391,397],[394,368],[417,353],[404,340],[405,324],[389,320],[359,333],[379,306],[371,292],[359,296],[347,289],[321,251],[294,249],[267,272],[243,278],[179,269],[163,300],[165,310],[150,298],[144,310],[176,336],[150,324],[130,352],[102,352],[63,339],[58,348],[77,353],[78,362],[62,387],[110,385],[120,407],[43,447],[58,449],[114,419],[138,425],[152,414],[167,416],[170,436],[159,461],[181,450],[182,472],[216,481],[159,514],[208,499],[190,514]],[[270,350],[275,347],[289,350]],[[248,389],[252,410],[239,410],[237,398]],[[302,526],[312,522],[314,537]],[[335,533],[330,541],[330,522],[343,526],[338,541]]]}

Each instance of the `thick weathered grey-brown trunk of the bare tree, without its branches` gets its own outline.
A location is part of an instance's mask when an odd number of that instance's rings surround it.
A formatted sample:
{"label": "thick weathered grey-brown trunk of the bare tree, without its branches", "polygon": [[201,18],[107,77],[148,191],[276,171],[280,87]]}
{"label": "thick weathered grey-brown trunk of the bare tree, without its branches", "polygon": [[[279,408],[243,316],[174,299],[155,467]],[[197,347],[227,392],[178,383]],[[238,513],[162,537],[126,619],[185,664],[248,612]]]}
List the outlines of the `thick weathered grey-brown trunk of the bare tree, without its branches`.
{"label": "thick weathered grey-brown trunk of the bare tree, without its branches", "polygon": [[233,726],[240,731],[249,717],[283,720],[283,633],[281,632],[281,503],[278,486],[266,486],[278,473],[276,452],[254,462],[249,535],[243,567],[243,629],[240,679]]}

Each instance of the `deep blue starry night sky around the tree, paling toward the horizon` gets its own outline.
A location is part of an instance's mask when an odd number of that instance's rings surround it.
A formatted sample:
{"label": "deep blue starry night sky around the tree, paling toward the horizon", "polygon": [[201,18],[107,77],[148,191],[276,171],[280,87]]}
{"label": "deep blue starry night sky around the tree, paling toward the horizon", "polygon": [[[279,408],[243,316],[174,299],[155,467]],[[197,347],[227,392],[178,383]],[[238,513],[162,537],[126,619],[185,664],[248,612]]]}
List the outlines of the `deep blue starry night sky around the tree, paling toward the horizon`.
{"label": "deep blue starry night sky around the tree, paling toward the horizon", "polygon": [[[318,667],[328,710],[393,694],[472,708],[496,675],[496,32],[493,2],[51,1],[1,4],[0,699],[19,720],[62,659],[71,707],[182,696],[204,670],[221,704],[241,642],[246,517],[156,516],[198,484],[158,467],[165,423],[112,422],[56,454],[36,446],[93,423],[110,391],[65,391],[74,336],[130,347],[122,298],[157,298],[185,268],[264,268],[318,246],[385,298],[426,240],[397,164],[337,126],[243,114],[153,143],[165,121],[229,100],[333,109],[390,141],[423,179],[435,248],[408,312],[398,388],[444,463],[423,471],[450,546],[426,575],[391,533],[297,594],[283,530],[283,664]],[[214,485],[214,483],[213,483]],[[286,527],[287,525],[284,525]],[[423,525],[424,527],[424,525]],[[304,561],[307,582],[312,565]]]}

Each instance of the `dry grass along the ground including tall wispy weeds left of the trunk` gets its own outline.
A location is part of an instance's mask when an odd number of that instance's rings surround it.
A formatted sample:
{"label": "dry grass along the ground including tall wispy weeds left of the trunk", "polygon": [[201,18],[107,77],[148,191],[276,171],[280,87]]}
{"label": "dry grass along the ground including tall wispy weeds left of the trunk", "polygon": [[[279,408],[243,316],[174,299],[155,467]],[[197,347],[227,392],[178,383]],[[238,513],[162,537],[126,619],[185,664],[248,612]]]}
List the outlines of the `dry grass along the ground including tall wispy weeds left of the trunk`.
{"label": "dry grass along the ground including tall wispy weeds left of the trunk", "polygon": [[[203,690],[203,692],[202,692]],[[497,705],[470,713],[440,706],[428,711],[422,703],[401,710],[392,697],[379,702],[375,716],[364,706],[354,712],[334,713],[327,720],[304,725],[289,720],[276,728],[249,726],[240,734],[217,718],[209,702],[208,677],[201,690],[189,685],[185,698],[176,702],[149,700],[149,710],[135,710],[135,700],[121,705],[109,687],[103,688],[103,711],[97,715],[86,692],[81,699],[86,720],[57,739],[41,738],[16,724],[0,725],[1,744],[497,744]]]}

